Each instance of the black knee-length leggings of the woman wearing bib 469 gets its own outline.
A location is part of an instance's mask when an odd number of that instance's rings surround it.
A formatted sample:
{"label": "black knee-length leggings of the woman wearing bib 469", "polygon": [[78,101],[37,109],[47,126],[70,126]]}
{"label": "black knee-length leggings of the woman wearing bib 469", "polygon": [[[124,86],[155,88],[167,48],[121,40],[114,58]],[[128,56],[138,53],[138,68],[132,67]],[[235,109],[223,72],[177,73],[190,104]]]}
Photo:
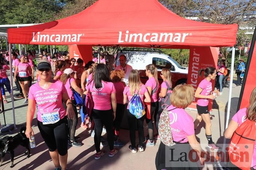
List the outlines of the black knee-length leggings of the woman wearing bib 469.
{"label": "black knee-length leggings of the woman wearing bib 469", "polygon": [[43,124],[37,121],[37,126],[49,151],[53,152],[57,149],[61,156],[68,153],[67,117],[53,124]]}

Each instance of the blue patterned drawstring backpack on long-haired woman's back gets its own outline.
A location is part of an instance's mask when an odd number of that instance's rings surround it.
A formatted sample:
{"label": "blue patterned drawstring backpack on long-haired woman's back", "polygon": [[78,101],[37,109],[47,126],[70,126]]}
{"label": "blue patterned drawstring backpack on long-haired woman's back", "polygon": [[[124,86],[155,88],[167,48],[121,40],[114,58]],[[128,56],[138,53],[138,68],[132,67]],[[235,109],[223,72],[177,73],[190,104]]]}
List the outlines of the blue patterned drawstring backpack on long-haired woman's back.
{"label": "blue patterned drawstring backpack on long-haired woman's back", "polygon": [[132,96],[132,99],[129,102],[129,111],[137,119],[145,115],[145,110],[138,94]]}

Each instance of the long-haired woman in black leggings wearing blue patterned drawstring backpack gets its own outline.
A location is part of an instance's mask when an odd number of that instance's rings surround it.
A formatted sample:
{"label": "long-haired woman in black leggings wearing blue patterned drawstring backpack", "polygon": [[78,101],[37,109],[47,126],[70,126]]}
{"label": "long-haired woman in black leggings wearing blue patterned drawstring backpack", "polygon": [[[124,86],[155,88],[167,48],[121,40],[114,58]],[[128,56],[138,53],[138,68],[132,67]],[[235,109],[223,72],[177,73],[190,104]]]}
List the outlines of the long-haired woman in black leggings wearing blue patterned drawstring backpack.
{"label": "long-haired woman in black leggings wearing blue patterned drawstring backpack", "polygon": [[[146,115],[142,116],[140,119],[137,119],[134,115],[131,114],[129,111],[129,101],[131,101],[133,95],[138,94],[140,99],[144,105],[144,102],[150,102],[150,95],[148,94],[147,88],[142,82],[140,82],[139,72],[137,70],[132,70],[129,75],[129,85],[124,88],[124,104],[128,103],[126,110],[127,119],[129,124],[130,130],[130,141],[131,145],[129,145],[129,150],[132,153],[137,153],[136,144],[135,144],[135,131],[136,131],[136,124],[138,127],[138,134],[139,134],[139,145],[138,150],[140,152],[144,151],[143,142],[144,142],[144,120]],[[143,100],[145,97],[145,100]],[[128,99],[128,100],[127,100]],[[144,102],[143,102],[144,101]]]}

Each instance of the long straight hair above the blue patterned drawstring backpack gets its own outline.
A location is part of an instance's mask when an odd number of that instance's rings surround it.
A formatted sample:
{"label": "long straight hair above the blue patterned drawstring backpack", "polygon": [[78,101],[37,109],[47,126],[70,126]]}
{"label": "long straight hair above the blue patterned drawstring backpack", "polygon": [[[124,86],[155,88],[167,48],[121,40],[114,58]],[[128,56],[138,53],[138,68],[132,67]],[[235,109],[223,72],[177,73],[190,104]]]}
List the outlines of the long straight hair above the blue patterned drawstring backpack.
{"label": "long straight hair above the blue patterned drawstring backpack", "polygon": [[138,90],[140,92],[140,85],[142,82],[140,81],[140,76],[138,70],[132,70],[129,75],[129,87],[131,95],[135,94],[135,91]]}

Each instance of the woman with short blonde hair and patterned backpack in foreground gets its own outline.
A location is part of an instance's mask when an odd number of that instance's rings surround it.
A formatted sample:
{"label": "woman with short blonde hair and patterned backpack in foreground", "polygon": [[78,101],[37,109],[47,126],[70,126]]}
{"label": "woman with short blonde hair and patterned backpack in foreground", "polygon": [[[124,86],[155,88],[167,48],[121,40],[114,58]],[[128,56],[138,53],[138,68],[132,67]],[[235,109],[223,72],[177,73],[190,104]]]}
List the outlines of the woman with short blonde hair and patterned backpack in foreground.
{"label": "woman with short blonde hair and patterned backpack in foreground", "polygon": [[[193,98],[194,88],[191,84],[180,84],[173,89],[170,97],[172,105],[167,107],[168,114],[160,116],[160,119],[167,120],[169,124],[159,125],[159,134],[162,136],[155,158],[157,170],[199,170],[190,153],[194,149],[201,157],[204,155],[204,150],[196,140],[193,118],[185,111],[185,108],[192,103]],[[170,134],[172,134],[173,142],[176,145],[170,145]],[[182,154],[184,157],[180,159],[181,153],[187,154]]]}

